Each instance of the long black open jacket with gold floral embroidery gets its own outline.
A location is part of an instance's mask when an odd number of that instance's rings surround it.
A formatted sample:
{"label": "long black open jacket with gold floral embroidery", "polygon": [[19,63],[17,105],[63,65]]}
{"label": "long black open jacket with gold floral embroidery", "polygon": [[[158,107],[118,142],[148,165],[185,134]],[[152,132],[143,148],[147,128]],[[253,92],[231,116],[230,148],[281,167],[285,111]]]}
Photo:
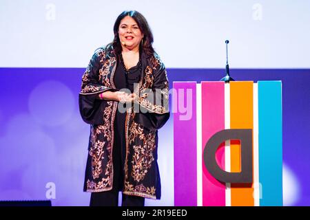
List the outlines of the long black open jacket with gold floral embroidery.
{"label": "long black open jacket with gold floral embroidery", "polygon": [[[114,85],[116,54],[107,56],[96,50],[82,78],[79,109],[90,124],[84,191],[112,189],[114,119],[118,102],[99,100],[103,91],[117,91]],[[134,93],[138,99],[125,118],[125,164],[123,193],[150,199],[161,198],[161,179],[157,164],[157,130],[169,119],[168,80],[165,66],[154,53],[141,54],[142,73]],[[136,110],[138,109],[138,111]],[[118,125],[120,126],[120,125]]]}

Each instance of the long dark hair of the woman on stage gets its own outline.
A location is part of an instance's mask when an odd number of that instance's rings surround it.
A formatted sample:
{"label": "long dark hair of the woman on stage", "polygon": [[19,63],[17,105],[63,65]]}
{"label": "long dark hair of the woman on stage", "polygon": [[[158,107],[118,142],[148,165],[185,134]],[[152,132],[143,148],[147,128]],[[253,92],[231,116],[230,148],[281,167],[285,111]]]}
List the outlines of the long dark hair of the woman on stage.
{"label": "long dark hair of the woman on stage", "polygon": [[140,43],[140,50],[143,51],[147,56],[152,56],[154,54],[154,48],[152,46],[153,43],[153,34],[151,29],[149,28],[149,24],[147,23],[147,20],[145,17],[140,13],[135,10],[130,10],[130,11],[124,11],[120,15],[118,15],[115,23],[114,23],[114,39],[111,43],[109,43],[105,47],[105,51],[107,56],[111,55],[111,52],[114,50],[116,54],[121,53],[122,47],[121,47],[121,42],[118,37],[118,28],[119,24],[121,23],[121,20],[126,17],[130,16],[136,23],[138,24],[138,27],[140,28],[143,36],[143,44]]}

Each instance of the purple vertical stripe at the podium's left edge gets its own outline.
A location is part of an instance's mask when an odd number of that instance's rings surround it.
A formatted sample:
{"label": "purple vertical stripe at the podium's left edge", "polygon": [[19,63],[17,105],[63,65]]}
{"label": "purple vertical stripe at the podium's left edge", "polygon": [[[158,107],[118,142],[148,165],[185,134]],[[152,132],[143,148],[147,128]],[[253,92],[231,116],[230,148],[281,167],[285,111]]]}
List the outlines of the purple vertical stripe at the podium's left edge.
{"label": "purple vertical stripe at the podium's left edge", "polygon": [[[174,206],[197,206],[196,82],[174,82],[173,86],[174,101],[178,98],[173,109]],[[192,104],[187,103],[187,96]]]}

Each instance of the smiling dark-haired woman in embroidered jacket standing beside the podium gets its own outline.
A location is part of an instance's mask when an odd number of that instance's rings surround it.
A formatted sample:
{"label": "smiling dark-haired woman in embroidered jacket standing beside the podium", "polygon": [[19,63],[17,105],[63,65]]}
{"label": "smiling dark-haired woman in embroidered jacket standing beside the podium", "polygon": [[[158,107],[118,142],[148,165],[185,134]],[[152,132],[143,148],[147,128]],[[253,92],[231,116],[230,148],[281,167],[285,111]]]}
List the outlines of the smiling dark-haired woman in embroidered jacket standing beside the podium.
{"label": "smiling dark-haired woman in embroidered jacket standing beside the podium", "polygon": [[122,12],[114,40],[96,50],[82,78],[79,108],[90,124],[84,191],[90,206],[144,206],[161,198],[157,130],[169,119],[165,65],[142,14]]}

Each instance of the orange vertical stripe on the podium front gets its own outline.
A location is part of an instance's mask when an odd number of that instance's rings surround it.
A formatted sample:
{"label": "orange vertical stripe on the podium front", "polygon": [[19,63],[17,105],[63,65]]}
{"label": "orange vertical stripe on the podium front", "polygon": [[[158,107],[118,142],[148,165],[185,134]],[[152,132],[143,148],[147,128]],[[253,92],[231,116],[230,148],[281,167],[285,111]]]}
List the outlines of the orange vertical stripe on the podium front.
{"label": "orange vertical stripe on the podium front", "polygon": [[[230,128],[253,129],[253,82],[230,83]],[[240,172],[240,153],[240,142],[231,141],[231,172]],[[253,184],[231,184],[231,206],[254,206],[253,193]]]}

